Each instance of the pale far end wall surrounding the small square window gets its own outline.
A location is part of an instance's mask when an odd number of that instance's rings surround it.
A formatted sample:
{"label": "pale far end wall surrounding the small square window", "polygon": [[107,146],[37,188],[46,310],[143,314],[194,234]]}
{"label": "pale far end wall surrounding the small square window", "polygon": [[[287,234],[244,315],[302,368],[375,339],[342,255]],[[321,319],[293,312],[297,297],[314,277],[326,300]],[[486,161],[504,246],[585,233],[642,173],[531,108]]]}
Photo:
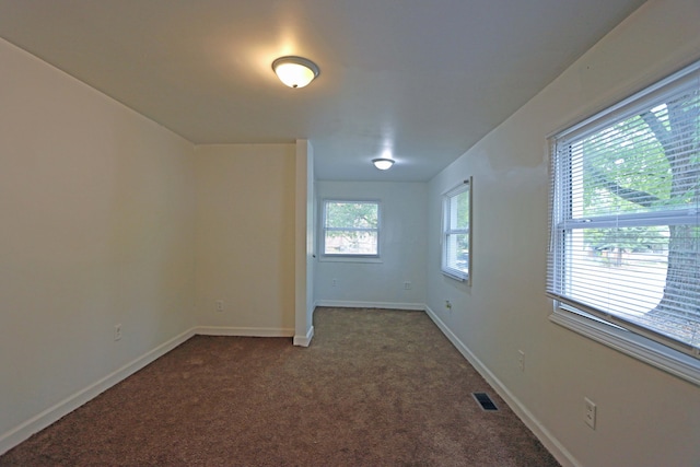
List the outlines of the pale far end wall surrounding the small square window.
{"label": "pale far end wall surrounding the small square window", "polygon": [[[428,198],[425,183],[328,182],[316,184],[318,229],[324,199],[380,200],[378,262],[327,260],[318,255],[315,296],[319,304],[406,306],[425,303]],[[317,236],[320,240],[320,231]],[[334,287],[335,279],[335,287]],[[410,282],[410,289],[405,289]]]}

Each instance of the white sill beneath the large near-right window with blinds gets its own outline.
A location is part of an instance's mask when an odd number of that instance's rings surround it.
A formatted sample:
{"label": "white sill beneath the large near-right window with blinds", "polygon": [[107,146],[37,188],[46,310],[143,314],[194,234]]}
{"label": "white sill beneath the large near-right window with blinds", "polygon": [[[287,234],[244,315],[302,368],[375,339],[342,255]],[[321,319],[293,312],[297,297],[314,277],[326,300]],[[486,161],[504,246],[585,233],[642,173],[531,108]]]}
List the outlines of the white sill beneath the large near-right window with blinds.
{"label": "white sill beneath the large near-right window with blinds", "polygon": [[556,307],[552,323],[700,386],[700,360],[595,318]]}

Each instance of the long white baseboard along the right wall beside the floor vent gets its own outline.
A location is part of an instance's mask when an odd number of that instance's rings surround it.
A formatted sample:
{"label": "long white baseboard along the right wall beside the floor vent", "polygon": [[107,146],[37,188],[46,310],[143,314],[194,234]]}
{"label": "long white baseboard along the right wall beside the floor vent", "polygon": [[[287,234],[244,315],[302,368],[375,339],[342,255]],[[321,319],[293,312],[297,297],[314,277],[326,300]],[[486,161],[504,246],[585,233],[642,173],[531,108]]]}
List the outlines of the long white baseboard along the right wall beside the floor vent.
{"label": "long white baseboard along the right wall beside the floor vent", "polygon": [[425,305],[425,313],[442,330],[453,346],[464,355],[465,359],[483,376],[483,378],[495,389],[495,392],[505,400],[515,415],[525,423],[525,425],[537,436],[555,458],[562,466],[580,467],[581,464],[576,458],[547,430],[540,422],[527,410],[517,397],[509,390],[508,387],[465,346],[462,340],[435,315],[435,313]]}

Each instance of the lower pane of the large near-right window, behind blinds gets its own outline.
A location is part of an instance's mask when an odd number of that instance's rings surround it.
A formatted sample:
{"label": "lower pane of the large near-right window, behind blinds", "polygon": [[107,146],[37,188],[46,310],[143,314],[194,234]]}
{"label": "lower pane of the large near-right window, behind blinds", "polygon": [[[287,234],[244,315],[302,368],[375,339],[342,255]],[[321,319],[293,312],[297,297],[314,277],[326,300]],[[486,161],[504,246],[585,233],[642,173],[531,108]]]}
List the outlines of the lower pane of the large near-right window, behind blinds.
{"label": "lower pane of the large near-right window, behind blinds", "polygon": [[[685,265],[668,268],[670,231],[686,230]],[[695,235],[695,237],[693,237]],[[678,233],[676,233],[678,236]],[[700,283],[681,278],[698,264],[698,227],[628,227],[578,230],[569,234],[568,295],[664,336],[700,346],[700,314],[689,307]],[[677,278],[669,277],[676,275]]]}

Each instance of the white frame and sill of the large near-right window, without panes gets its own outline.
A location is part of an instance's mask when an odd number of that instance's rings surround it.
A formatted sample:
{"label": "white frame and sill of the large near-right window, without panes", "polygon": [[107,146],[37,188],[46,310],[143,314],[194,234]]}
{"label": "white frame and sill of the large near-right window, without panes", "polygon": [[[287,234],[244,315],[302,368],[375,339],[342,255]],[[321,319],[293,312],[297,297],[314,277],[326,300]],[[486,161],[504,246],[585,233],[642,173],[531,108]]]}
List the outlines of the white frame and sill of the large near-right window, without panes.
{"label": "white frame and sill of the large near-right window, without panes", "polygon": [[[550,136],[550,242],[547,295],[553,299],[553,312],[550,315],[552,323],[700,386],[700,349],[664,338],[661,334],[637,326],[625,318],[602,313],[585,303],[568,300],[564,294],[558,292],[564,287],[558,281],[563,282],[563,277],[571,273],[565,269],[568,255],[565,232],[573,232],[576,229],[609,227],[614,222],[605,215],[585,220],[573,219],[573,188],[569,189],[569,187],[574,186],[575,183],[573,179],[557,178],[561,171],[557,165],[571,164],[574,156],[569,150],[568,159],[560,160],[558,154],[560,147],[564,144],[562,152],[565,152],[565,144],[572,144],[576,138],[582,140],[584,138],[582,135],[592,135],[604,127],[622,121],[656,97],[672,94],[689,83],[700,87],[700,62],[686,67],[580,124]],[[570,168],[563,172],[572,173]],[[614,225],[651,226],[688,222],[687,212],[670,211],[623,213],[616,217]]]}

